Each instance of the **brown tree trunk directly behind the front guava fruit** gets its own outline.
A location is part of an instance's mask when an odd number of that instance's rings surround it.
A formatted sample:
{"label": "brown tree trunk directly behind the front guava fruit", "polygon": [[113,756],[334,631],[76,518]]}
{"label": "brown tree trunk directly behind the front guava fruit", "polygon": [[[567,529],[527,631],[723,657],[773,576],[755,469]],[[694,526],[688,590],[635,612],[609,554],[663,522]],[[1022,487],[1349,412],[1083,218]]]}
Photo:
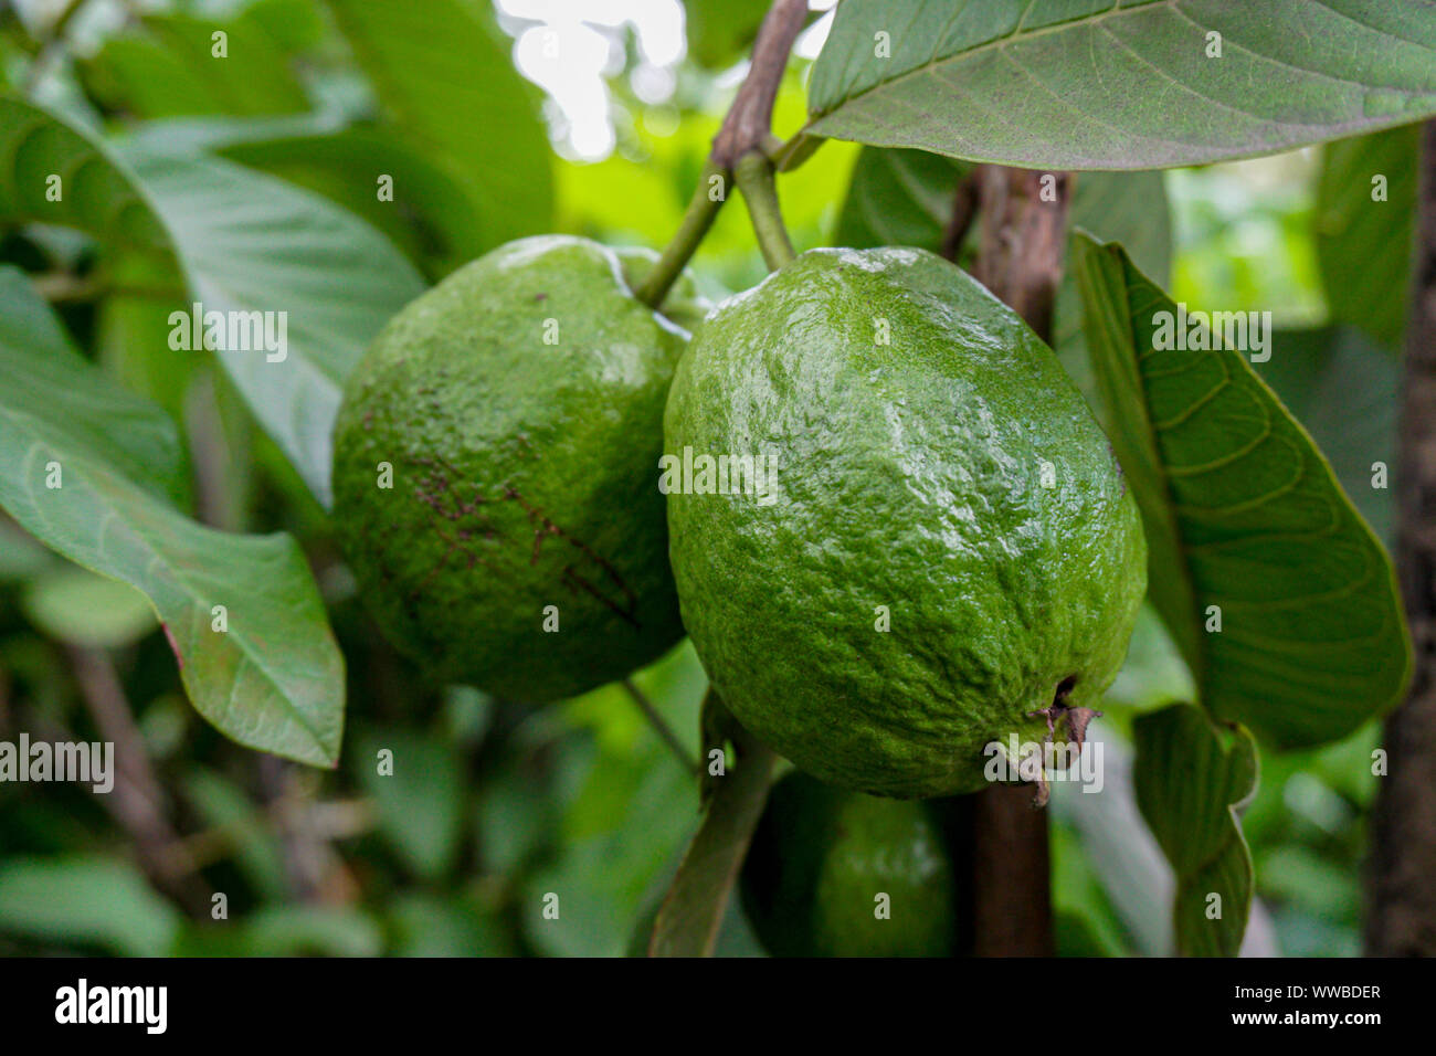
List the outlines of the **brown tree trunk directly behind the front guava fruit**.
{"label": "brown tree trunk directly behind the front guava fruit", "polygon": [[[976,277],[1043,341],[1053,341],[1053,303],[1063,274],[1071,177],[982,167]],[[1047,198],[1044,201],[1044,191]],[[972,797],[972,953],[1051,957],[1051,862],[1047,812],[1034,790],[994,784]]]}

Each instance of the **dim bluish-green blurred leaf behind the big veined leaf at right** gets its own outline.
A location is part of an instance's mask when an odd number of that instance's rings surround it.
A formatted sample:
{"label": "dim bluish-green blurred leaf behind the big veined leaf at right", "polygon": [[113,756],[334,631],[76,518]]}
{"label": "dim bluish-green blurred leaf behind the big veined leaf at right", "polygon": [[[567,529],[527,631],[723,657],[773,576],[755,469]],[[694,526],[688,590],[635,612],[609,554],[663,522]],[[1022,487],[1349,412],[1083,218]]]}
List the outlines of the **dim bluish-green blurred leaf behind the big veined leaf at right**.
{"label": "dim bluish-green blurred leaf behind the big veined leaf at right", "polygon": [[[1396,411],[1400,361],[1351,326],[1277,330],[1256,372],[1311,434],[1377,537],[1396,539]],[[1386,467],[1376,487],[1376,464]]]}

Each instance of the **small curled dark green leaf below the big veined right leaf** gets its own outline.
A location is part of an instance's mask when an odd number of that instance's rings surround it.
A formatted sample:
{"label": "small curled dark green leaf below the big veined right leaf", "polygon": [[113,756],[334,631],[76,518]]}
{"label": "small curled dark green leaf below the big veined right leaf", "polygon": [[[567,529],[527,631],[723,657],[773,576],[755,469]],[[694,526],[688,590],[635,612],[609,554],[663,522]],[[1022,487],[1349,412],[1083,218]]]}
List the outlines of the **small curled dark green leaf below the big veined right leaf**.
{"label": "small curled dark green leaf below the big veined right leaf", "polygon": [[1176,872],[1178,954],[1235,957],[1252,905],[1239,816],[1256,795],[1256,744],[1190,704],[1137,715],[1132,731],[1137,806]]}

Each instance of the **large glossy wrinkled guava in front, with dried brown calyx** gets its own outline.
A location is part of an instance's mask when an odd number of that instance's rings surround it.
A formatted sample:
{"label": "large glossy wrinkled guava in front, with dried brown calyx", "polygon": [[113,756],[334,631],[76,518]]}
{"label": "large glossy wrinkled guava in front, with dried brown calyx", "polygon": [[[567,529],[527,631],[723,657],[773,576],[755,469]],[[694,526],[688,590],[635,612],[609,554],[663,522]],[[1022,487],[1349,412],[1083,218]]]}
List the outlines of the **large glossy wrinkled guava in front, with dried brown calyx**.
{"label": "large glossy wrinkled guava in front, with dried brown calyx", "polygon": [[[1137,506],[1051,349],[946,260],[813,250],[719,305],[669,392],[685,448],[684,624],[738,720],[824,782],[975,792],[985,746],[1041,743],[1031,713],[1116,677]],[[760,453],[767,496],[702,493],[699,455]]]}

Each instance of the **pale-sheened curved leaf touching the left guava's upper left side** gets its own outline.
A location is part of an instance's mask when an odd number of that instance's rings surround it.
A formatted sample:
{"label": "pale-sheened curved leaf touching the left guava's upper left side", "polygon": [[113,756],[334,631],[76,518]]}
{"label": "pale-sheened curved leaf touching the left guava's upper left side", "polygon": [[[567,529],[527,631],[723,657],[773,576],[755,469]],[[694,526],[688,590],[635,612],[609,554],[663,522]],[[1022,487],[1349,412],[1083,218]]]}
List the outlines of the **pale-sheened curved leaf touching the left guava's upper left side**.
{"label": "pale-sheened curved leaf touching the left guava's upper left side", "polygon": [[[78,227],[122,257],[172,254],[205,312],[284,313],[283,359],[215,355],[327,504],[342,382],[379,328],[422,292],[414,267],[352,214],[280,180],[146,139],[113,158],[17,99],[0,98],[0,218]],[[45,195],[50,174],[63,181],[57,203]]]}

